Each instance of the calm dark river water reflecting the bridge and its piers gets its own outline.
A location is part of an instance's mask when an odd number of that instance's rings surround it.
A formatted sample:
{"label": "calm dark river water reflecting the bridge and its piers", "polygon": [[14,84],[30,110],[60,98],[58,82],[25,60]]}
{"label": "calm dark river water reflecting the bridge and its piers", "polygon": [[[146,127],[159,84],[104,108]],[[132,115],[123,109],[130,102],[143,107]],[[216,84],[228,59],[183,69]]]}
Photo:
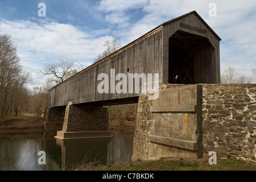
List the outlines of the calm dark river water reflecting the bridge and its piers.
{"label": "calm dark river water reflecting the bridge and its piers", "polygon": [[[57,140],[56,132],[0,135],[0,170],[70,169],[84,162],[128,162],[133,153],[134,132],[113,133],[113,138]],[[39,165],[39,151],[46,152],[46,165]]]}

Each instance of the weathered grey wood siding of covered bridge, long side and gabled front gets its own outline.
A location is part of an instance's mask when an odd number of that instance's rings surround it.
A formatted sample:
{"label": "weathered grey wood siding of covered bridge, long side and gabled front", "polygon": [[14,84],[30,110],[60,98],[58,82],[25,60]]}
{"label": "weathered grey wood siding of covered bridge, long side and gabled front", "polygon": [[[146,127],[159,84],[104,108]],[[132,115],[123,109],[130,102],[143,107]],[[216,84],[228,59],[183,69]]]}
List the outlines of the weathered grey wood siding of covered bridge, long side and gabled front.
{"label": "weathered grey wood siding of covered bridge, long side and gabled front", "polygon": [[[183,26],[180,23],[183,23]],[[49,107],[65,106],[69,101],[73,104],[81,104],[138,97],[141,93],[128,93],[128,68],[129,73],[158,73],[159,83],[168,83],[169,38],[178,30],[203,36],[209,40],[206,45],[209,48],[207,51],[205,46],[195,47],[195,83],[220,83],[221,39],[195,11],[192,11],[156,27],[119,51],[49,90]],[[115,69],[115,75],[125,73],[127,93],[98,93],[97,86],[101,81],[97,81],[97,77],[100,73],[106,73],[109,76],[110,92],[110,69]],[[114,85],[118,82],[115,81]]]}

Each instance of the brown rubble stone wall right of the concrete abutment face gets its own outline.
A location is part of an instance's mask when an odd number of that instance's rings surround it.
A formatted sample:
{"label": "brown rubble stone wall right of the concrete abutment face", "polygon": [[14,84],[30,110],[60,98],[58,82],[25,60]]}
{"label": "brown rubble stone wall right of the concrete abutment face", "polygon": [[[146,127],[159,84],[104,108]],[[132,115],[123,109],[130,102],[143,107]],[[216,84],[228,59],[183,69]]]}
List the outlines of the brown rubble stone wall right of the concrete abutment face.
{"label": "brown rubble stone wall right of the concrete abutment face", "polygon": [[203,150],[256,162],[256,84],[203,84]]}

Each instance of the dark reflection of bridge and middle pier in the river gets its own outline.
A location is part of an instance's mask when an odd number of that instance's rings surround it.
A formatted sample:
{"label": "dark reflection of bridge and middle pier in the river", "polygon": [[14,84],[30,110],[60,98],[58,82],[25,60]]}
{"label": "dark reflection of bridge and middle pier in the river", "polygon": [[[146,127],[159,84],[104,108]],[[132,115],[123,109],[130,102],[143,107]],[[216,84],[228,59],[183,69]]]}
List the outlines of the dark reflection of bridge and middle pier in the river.
{"label": "dark reflection of bridge and middle pier in the river", "polygon": [[105,165],[129,162],[133,155],[134,132],[117,132],[113,135],[113,138],[56,140],[56,144],[61,146],[61,169],[89,162]]}

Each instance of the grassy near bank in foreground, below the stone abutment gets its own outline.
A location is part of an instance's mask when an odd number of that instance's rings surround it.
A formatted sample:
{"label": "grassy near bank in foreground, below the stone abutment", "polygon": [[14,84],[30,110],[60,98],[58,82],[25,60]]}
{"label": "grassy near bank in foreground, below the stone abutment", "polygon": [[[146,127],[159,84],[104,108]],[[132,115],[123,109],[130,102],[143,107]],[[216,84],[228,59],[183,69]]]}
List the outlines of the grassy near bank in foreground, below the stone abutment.
{"label": "grassy near bank in foreground, below the stone abutment", "polygon": [[76,171],[256,171],[256,164],[242,160],[218,159],[216,165],[210,165],[208,158],[183,159],[163,158],[160,160],[116,163],[109,166],[98,162],[77,167]]}

